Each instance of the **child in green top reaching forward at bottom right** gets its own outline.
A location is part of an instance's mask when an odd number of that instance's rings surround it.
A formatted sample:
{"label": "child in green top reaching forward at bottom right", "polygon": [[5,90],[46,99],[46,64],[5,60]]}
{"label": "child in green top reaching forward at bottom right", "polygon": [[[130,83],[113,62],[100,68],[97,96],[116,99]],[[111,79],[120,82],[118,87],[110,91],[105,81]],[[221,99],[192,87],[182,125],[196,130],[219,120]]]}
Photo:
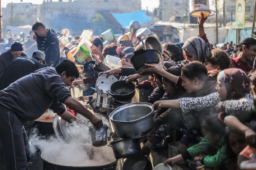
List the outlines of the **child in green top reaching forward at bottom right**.
{"label": "child in green top reaching forward at bottom right", "polygon": [[[218,114],[212,114],[206,117],[202,125],[202,131],[205,135],[202,141],[188,148],[186,152],[167,159],[164,161],[164,164],[173,166],[180,161],[199,156],[195,160],[200,160],[207,167],[220,166],[227,158],[226,149],[228,144],[225,142],[224,137],[225,128],[226,125],[218,119]],[[218,148],[218,152],[214,156],[200,156],[201,154],[207,154],[207,148],[210,146]]]}

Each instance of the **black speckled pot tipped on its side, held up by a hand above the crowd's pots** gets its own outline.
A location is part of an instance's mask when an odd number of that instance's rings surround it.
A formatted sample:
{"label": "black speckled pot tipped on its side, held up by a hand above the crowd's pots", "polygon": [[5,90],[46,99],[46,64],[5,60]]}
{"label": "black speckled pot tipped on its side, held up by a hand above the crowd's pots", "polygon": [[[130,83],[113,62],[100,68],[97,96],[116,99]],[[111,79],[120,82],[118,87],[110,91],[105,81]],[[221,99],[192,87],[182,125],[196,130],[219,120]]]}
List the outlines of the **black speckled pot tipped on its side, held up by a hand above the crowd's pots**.
{"label": "black speckled pot tipped on its side, held up by a hand above the crowd's pots", "polygon": [[134,55],[131,58],[131,63],[138,74],[144,75],[144,76],[151,75],[152,72],[150,71],[143,72],[144,69],[148,68],[148,66],[146,66],[145,63],[157,64],[159,63],[160,57],[161,57],[161,54],[157,50],[139,49],[137,51],[134,51]]}

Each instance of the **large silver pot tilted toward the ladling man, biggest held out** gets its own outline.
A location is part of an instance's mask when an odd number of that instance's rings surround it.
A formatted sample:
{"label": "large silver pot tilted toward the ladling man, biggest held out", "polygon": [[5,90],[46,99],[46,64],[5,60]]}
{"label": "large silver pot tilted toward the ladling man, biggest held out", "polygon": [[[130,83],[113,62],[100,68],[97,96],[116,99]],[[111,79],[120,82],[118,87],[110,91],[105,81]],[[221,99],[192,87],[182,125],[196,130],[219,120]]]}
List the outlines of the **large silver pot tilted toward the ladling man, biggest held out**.
{"label": "large silver pot tilted toward the ladling man, biggest held out", "polygon": [[133,102],[117,107],[110,115],[121,138],[136,139],[146,137],[154,126],[153,109],[151,103]]}

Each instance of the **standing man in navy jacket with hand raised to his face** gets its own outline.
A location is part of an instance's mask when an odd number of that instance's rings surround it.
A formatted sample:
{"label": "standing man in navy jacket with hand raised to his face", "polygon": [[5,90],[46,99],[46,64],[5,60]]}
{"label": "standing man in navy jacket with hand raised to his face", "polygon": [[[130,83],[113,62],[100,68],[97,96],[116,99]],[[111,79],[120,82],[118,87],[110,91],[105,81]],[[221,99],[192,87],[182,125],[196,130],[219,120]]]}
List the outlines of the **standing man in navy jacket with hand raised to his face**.
{"label": "standing man in navy jacket with hand raised to his face", "polygon": [[55,67],[60,61],[60,45],[56,33],[51,28],[45,28],[41,22],[34,22],[32,26],[37,49],[45,54],[47,67]]}

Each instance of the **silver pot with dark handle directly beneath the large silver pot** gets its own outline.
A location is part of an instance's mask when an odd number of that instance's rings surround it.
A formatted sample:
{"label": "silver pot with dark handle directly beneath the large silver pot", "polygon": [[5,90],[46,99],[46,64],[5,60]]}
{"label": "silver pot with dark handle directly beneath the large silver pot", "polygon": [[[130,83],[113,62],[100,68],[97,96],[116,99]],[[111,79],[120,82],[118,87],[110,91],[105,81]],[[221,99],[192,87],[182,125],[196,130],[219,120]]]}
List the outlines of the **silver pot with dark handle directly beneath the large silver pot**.
{"label": "silver pot with dark handle directly beneath the large silver pot", "polygon": [[110,142],[116,159],[127,158],[137,153],[141,153],[140,144],[133,139],[117,139]]}

